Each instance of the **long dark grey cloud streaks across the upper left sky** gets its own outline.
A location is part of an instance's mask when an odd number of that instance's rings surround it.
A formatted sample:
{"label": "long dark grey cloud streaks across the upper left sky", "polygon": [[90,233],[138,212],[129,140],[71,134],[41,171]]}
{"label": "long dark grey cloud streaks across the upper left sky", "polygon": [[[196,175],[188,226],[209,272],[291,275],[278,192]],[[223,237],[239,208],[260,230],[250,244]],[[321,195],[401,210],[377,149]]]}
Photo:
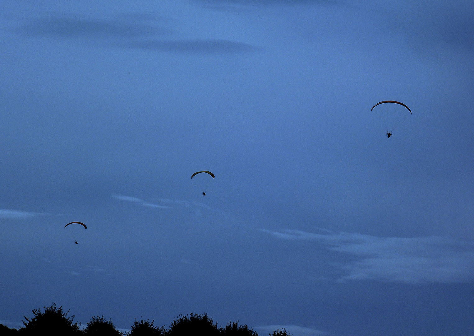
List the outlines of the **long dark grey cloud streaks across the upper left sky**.
{"label": "long dark grey cloud streaks across the upper left sky", "polygon": [[16,28],[30,36],[76,38],[100,43],[107,47],[122,47],[160,52],[194,54],[229,54],[259,50],[250,44],[226,39],[161,39],[170,29],[155,25],[154,13],[129,13],[116,19],[84,19],[71,16],[48,16],[31,19]]}

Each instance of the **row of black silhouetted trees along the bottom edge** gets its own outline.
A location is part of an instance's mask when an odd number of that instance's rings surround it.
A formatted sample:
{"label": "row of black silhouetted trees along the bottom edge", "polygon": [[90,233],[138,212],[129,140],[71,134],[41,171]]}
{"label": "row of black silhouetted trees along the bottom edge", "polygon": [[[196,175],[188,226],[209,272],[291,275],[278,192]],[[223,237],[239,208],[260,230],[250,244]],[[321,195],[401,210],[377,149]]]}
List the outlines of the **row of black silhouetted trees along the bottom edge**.
{"label": "row of black silhouetted trees along the bottom edge", "polygon": [[[68,317],[69,310],[64,312],[63,307],[44,307],[32,310],[33,317],[24,316],[23,327],[9,328],[0,324],[0,335],[9,336],[258,336],[258,333],[247,325],[239,325],[238,321],[229,321],[225,327],[218,327],[206,313],[189,314],[176,317],[168,329],[164,326],[155,326],[155,320],[140,320],[135,318],[130,331],[123,333],[117,329],[112,320],[103,316],[93,316],[84,329],[74,321],[74,315]],[[291,336],[285,329],[277,329],[270,336]]]}

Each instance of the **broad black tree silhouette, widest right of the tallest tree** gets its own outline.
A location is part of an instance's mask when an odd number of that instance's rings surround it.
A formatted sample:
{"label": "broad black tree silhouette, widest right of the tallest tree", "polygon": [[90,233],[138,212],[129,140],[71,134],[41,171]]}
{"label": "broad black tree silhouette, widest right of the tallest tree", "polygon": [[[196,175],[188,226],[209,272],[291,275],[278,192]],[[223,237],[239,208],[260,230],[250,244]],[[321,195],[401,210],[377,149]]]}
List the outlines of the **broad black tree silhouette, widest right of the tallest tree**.
{"label": "broad black tree silhouette, widest right of the tallest tree", "polygon": [[217,323],[212,323],[212,318],[207,314],[192,314],[188,317],[180,315],[171,323],[167,332],[168,336],[219,336]]}

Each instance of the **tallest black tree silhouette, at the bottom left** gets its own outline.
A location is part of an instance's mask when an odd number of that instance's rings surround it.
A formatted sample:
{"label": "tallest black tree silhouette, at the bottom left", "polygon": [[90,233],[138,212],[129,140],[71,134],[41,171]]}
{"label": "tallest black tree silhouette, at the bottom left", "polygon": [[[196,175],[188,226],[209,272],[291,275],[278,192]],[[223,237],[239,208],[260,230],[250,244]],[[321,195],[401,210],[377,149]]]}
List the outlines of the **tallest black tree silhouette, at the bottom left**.
{"label": "tallest black tree silhouette, at the bottom left", "polygon": [[21,335],[81,335],[77,322],[73,323],[74,315],[67,317],[69,310],[63,312],[63,307],[56,308],[53,303],[51,307],[44,307],[45,311],[41,312],[41,308],[33,309],[35,315],[33,318],[22,321],[25,327],[21,327],[19,333]]}

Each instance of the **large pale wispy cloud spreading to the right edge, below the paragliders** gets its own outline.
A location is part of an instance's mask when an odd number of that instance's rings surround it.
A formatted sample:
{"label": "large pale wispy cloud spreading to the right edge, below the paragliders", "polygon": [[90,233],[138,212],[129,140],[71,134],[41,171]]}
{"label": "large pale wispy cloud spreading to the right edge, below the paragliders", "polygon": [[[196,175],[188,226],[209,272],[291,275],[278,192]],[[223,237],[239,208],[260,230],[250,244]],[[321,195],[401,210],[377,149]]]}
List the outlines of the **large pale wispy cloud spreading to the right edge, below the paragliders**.
{"label": "large pale wispy cloud spreading to the right edge, below the paragliders", "polygon": [[474,248],[444,237],[375,237],[360,233],[309,233],[300,230],[261,230],[286,240],[315,241],[354,260],[342,265],[339,281],[471,282]]}

